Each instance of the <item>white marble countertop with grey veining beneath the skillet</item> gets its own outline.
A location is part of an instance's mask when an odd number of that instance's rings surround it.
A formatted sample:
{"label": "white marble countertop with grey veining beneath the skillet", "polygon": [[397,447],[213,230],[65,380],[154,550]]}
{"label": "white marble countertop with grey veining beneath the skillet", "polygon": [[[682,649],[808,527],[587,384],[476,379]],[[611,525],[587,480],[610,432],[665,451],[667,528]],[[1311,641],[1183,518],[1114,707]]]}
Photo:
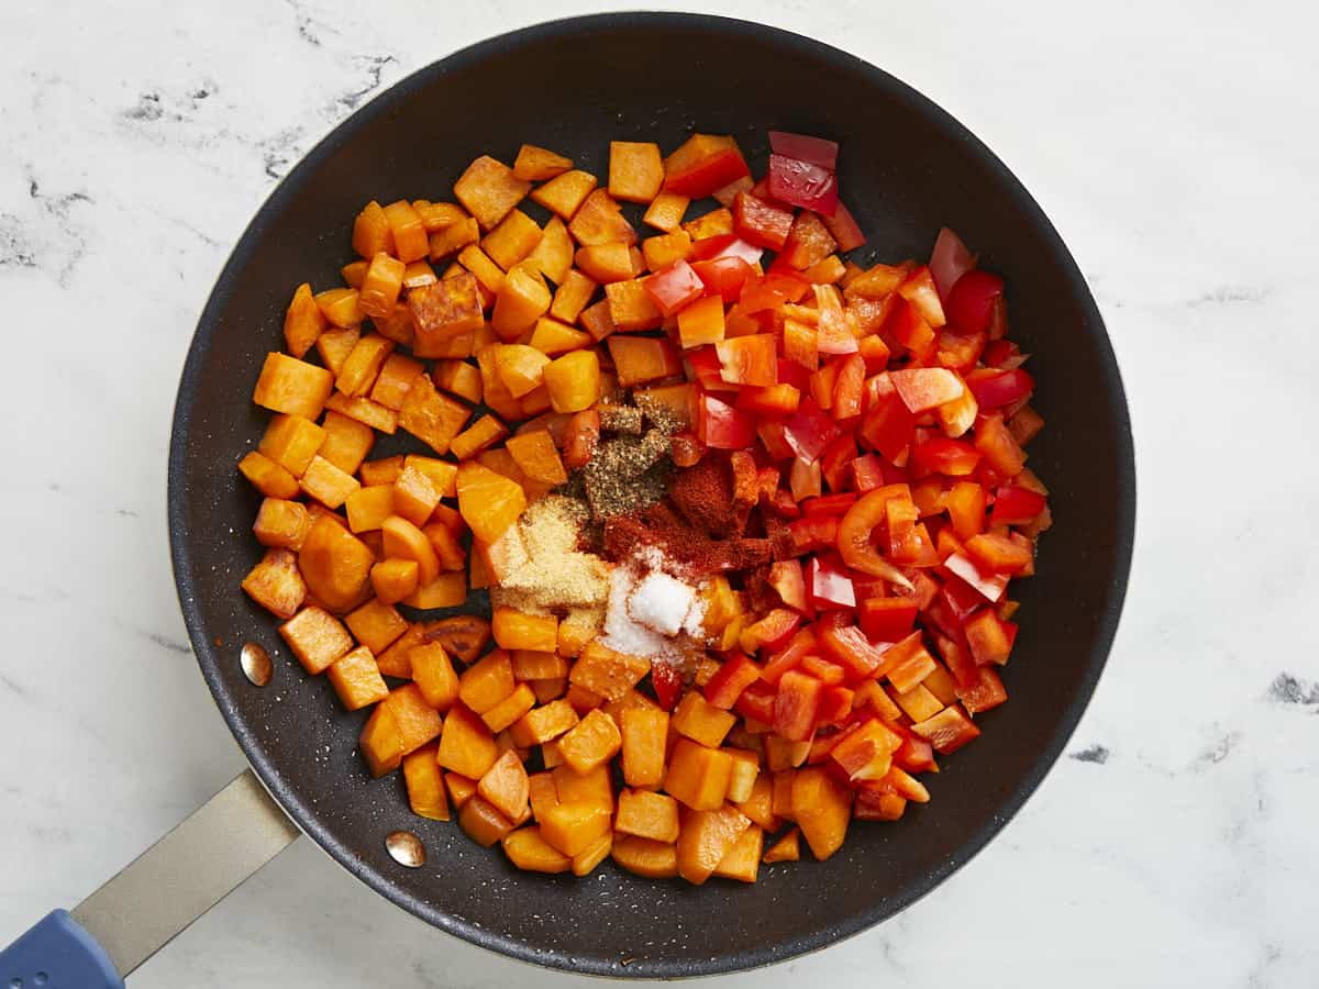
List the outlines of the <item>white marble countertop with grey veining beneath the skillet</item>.
{"label": "white marble countertop with grey veining beneath the skillet", "polygon": [[[1141,498],[1112,662],[1026,810],[896,920],[727,985],[1315,985],[1312,8],[704,7],[851,49],[1017,171],[1104,310]],[[0,943],[243,765],[174,599],[165,454],[248,218],[379,87],[587,9],[605,5],[0,4]],[[132,985],[533,980],[586,985],[427,928],[303,840]]]}

